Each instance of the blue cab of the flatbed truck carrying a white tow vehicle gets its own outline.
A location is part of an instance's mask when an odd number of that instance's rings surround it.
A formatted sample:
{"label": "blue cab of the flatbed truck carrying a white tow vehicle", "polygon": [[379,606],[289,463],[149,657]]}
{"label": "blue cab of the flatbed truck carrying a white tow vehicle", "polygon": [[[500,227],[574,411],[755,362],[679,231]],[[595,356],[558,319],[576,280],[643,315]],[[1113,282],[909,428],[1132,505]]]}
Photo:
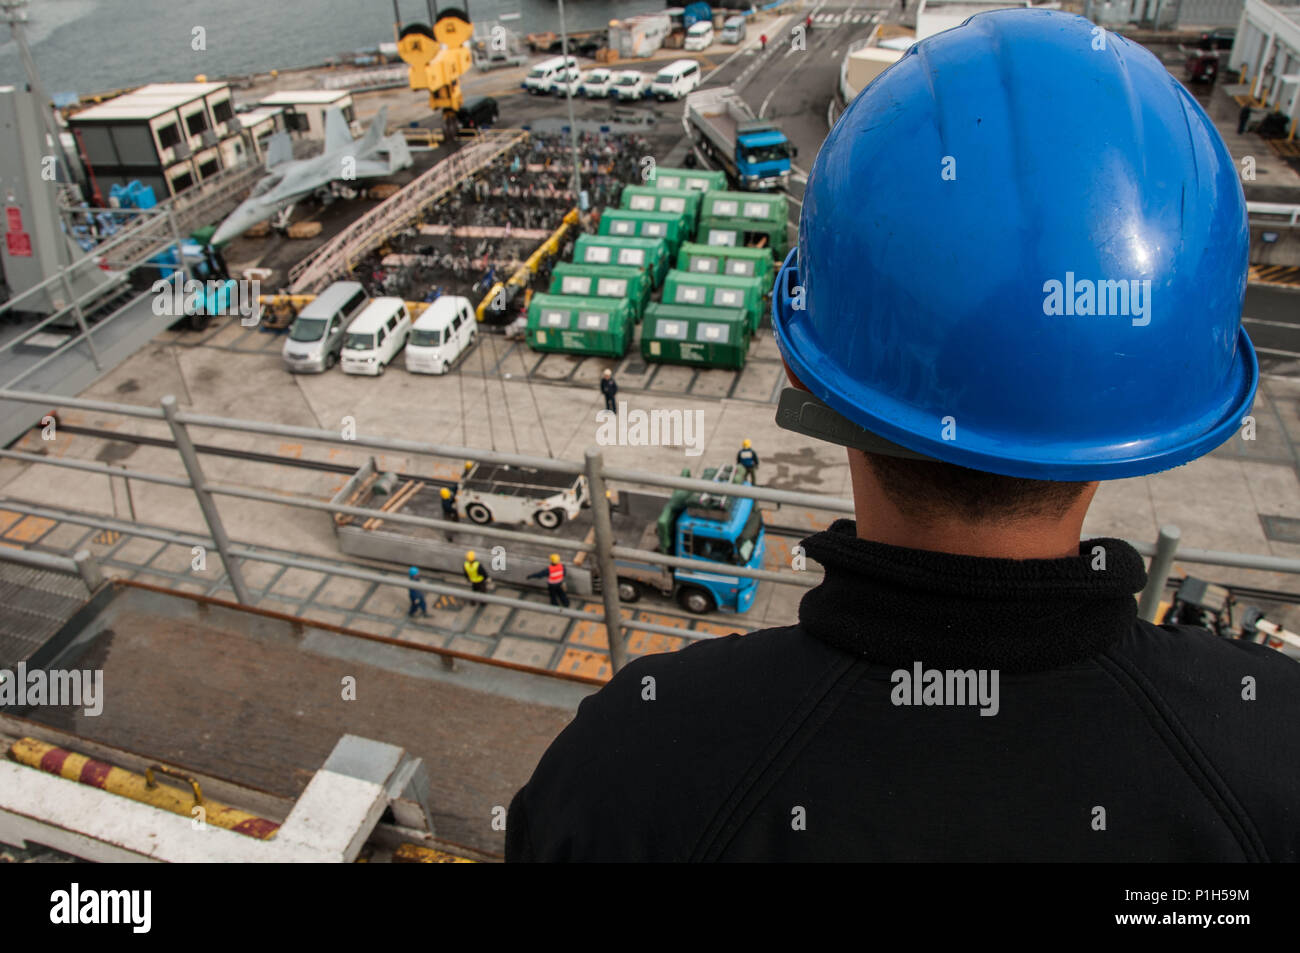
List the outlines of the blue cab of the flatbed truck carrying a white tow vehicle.
{"label": "blue cab of the flatbed truck carrying a white tow vehicle", "polygon": [[[690,476],[690,472],[684,471],[682,476]],[[744,480],[740,467],[706,468],[699,478],[718,482],[718,491],[675,491],[663,503],[658,519],[649,525],[642,524],[645,532],[641,541],[642,549],[698,560],[698,568],[618,559],[619,598],[623,602],[636,602],[649,588],[676,598],[682,608],[697,614],[715,608],[748,612],[754,605],[758,580],[729,575],[727,566],[762,567],[766,553],[762,512],[753,499],[727,491],[729,485]],[[618,525],[615,532],[618,534]]]}

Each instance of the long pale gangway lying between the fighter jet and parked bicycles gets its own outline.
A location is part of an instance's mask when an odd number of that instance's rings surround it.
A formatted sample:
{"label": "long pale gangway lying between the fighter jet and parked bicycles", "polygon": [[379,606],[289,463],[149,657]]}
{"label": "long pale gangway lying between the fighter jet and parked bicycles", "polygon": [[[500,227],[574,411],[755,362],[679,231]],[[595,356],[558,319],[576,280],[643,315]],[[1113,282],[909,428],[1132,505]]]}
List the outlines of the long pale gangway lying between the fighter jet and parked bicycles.
{"label": "long pale gangway lying between the fighter jet and parked bicycles", "polygon": [[485,130],[441,163],[381,202],[289,272],[290,294],[313,294],[350,270],[394,231],[406,228],[462,179],[523,142],[523,130]]}

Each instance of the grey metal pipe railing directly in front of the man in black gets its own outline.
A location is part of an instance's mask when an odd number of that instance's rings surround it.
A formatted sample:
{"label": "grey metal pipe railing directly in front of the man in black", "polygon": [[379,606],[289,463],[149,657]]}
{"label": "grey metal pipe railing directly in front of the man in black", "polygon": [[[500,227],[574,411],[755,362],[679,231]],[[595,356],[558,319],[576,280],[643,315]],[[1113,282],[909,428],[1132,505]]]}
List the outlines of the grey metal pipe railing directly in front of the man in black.
{"label": "grey metal pipe railing directly in front of the man in black", "polygon": [[[208,480],[208,477],[204,475],[202,463],[199,460],[199,451],[195,449],[195,445],[190,436],[190,429],[195,426],[209,428],[228,433],[260,434],[270,437],[291,437],[300,441],[325,443],[335,447],[338,446],[367,447],[372,450],[386,450],[386,451],[395,451],[416,456],[432,456],[432,458],[442,458],[458,462],[464,460],[467,458],[472,458],[482,463],[510,464],[516,467],[536,467],[575,476],[584,475],[589,482],[589,495],[592,499],[592,508],[593,508],[594,538],[590,542],[586,540],[563,538],[558,536],[550,536],[534,532],[502,529],[498,527],[476,525],[473,527],[473,532],[480,533],[481,536],[489,538],[519,541],[519,542],[545,541],[546,546],[551,549],[559,549],[575,553],[590,553],[594,555],[599,573],[606,581],[618,579],[616,560],[628,559],[640,563],[663,566],[668,568],[699,569],[702,568],[702,566],[712,566],[716,567],[716,569],[720,573],[724,573],[727,576],[783,582],[802,588],[812,588],[820,582],[819,579],[820,573],[812,573],[803,569],[794,569],[794,568],[781,569],[781,571],[757,569],[745,566],[733,566],[729,563],[710,563],[708,560],[672,556],[658,551],[649,551],[649,550],[641,550],[618,545],[618,542],[614,538],[611,503],[604,493],[604,486],[607,481],[655,486],[670,490],[676,490],[676,489],[692,490],[707,494],[715,494],[718,491],[718,484],[708,480],[699,480],[682,476],[666,476],[660,473],[650,473],[646,471],[632,469],[625,467],[610,467],[606,465],[601,451],[594,447],[589,449],[585,454],[584,460],[578,463],[575,460],[554,459],[549,456],[532,456],[524,454],[488,451],[488,450],[478,450],[474,447],[429,443],[424,441],[402,439],[394,437],[372,437],[365,434],[356,434],[344,438],[341,433],[335,430],[325,430],[309,426],[295,426],[287,424],[272,424],[272,423],[254,421],[254,420],[237,420],[237,419],[218,417],[205,413],[191,413],[179,410],[176,398],[170,395],[162,398],[162,400],[160,402],[161,406],[159,408],[143,407],[138,404],[120,404],[107,400],[95,400],[86,398],[66,398],[55,394],[39,394],[32,391],[18,391],[18,390],[0,390],[0,400],[14,400],[20,403],[42,404],[47,407],[92,411],[98,413],[112,413],[133,419],[165,423],[172,432],[176,450],[181,456],[181,462],[185,468],[183,477],[173,476],[169,473],[153,473],[142,469],[126,469],[124,467],[113,467],[91,460],[77,460],[77,459],[49,456],[21,450],[0,450],[0,459],[21,460],[40,465],[64,467],[87,473],[101,473],[109,477],[125,477],[126,480],[138,480],[142,482],[157,484],[162,486],[188,488],[195,494],[195,498],[203,512],[204,523],[208,530],[207,534],[192,533],[186,530],[176,530],[164,527],[150,527],[139,523],[129,523],[124,520],[112,519],[108,516],[101,516],[98,514],[64,511],[56,507],[26,503],[23,501],[5,499],[0,504],[3,504],[5,508],[31,516],[43,516],[47,519],[64,520],[72,524],[95,527],[101,529],[113,529],[117,532],[142,536],[146,538],[159,540],[164,542],[181,543],[186,546],[198,545],[214,549],[221,555],[222,566],[225,568],[226,576],[230,580],[230,588],[234,590],[237,599],[246,606],[252,606],[254,599],[248,590],[248,586],[243,580],[242,563],[244,560],[255,560],[255,562],[266,562],[294,568],[312,569],[317,572],[326,572],[338,576],[347,576],[363,581],[377,582],[381,585],[398,586],[402,589],[420,589],[422,592],[434,593],[438,595],[455,595],[462,598],[469,598],[474,602],[508,606],[512,608],[520,608],[529,612],[541,612],[567,619],[601,621],[604,624],[606,632],[608,634],[610,657],[611,657],[610,660],[614,671],[621,668],[627,660],[627,649],[624,645],[624,640],[627,637],[628,629],[676,636],[681,638],[712,637],[711,633],[702,631],[693,631],[681,627],[660,625],[656,623],[640,621],[640,620],[624,621],[621,615],[621,605],[619,599],[618,585],[604,584],[601,586],[601,599],[603,603],[603,611],[595,614],[577,608],[560,608],[556,606],[543,606],[537,602],[532,602],[523,598],[515,598],[510,595],[493,595],[490,593],[473,593],[472,595],[467,595],[468,590],[460,585],[451,585],[447,582],[429,582],[425,580],[410,580],[402,575],[393,572],[382,572],[378,569],[356,567],[356,566],[343,566],[322,559],[307,558],[298,554],[282,555],[278,553],[270,553],[231,540],[226,534],[220,508],[216,502],[218,497],[250,499],[261,503],[274,503],[280,506],[290,506],[318,512],[329,512],[334,515],[346,514],[351,516],[373,516],[374,511],[367,510],[364,507],[324,502],[315,498],[291,497],[280,493],[269,493],[259,489],[252,489],[248,486],[234,486],[222,482],[213,482]],[[753,486],[749,484],[729,484],[727,485],[727,494],[754,499],[757,502],[809,507],[812,510],[829,514],[852,515],[854,512],[853,501],[841,497],[827,497],[822,494],[800,493],[794,490],[776,490],[766,486]],[[406,524],[412,527],[426,527],[443,530],[447,529],[446,521],[429,517],[411,516],[398,512],[385,512],[382,517],[385,521]],[[1300,573],[1300,559],[1243,554],[1243,553],[1227,553],[1219,550],[1200,550],[1200,549],[1183,549],[1179,551],[1178,542],[1179,542],[1179,534],[1178,529],[1174,527],[1164,527],[1161,529],[1160,538],[1156,541],[1156,543],[1130,542],[1130,545],[1132,545],[1134,549],[1136,549],[1140,554],[1145,556],[1152,556],[1152,564],[1147,588],[1143,590],[1139,599],[1139,612],[1144,619],[1148,620],[1154,619],[1154,612],[1158,606],[1160,597],[1164,594],[1165,582],[1169,577],[1169,571],[1174,563],[1175,556],[1180,562],[1206,563],[1214,566],[1227,566],[1235,568],[1258,569],[1269,572]],[[746,629],[737,627],[736,631],[745,632]]]}

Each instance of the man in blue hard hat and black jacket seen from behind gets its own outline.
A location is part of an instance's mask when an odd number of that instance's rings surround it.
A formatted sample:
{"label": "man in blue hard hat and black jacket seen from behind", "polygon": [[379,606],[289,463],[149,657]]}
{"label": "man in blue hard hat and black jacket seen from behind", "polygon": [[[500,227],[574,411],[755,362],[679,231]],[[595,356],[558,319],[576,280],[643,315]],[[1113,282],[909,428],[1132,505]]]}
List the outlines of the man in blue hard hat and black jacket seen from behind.
{"label": "man in blue hard hat and black jacket seen from behind", "polygon": [[1300,861],[1300,667],[1139,619],[1139,554],[1080,542],[1101,480],[1254,399],[1205,113],[1080,17],[980,13],[859,94],[803,203],[777,423],[848,449],[857,519],[803,541],[796,624],[586,698],[507,859]]}

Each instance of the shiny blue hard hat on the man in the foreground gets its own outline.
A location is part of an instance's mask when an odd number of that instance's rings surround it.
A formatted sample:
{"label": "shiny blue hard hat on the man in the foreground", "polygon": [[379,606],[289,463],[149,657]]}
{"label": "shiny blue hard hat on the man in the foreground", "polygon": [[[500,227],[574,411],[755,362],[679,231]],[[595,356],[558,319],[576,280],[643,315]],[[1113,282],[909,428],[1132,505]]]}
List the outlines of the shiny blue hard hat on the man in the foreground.
{"label": "shiny blue hard hat on the man in the foreground", "polygon": [[1037,480],[1223,443],[1258,384],[1236,168],[1141,47],[979,13],[849,105],[809,174],[772,324],[783,426]]}

